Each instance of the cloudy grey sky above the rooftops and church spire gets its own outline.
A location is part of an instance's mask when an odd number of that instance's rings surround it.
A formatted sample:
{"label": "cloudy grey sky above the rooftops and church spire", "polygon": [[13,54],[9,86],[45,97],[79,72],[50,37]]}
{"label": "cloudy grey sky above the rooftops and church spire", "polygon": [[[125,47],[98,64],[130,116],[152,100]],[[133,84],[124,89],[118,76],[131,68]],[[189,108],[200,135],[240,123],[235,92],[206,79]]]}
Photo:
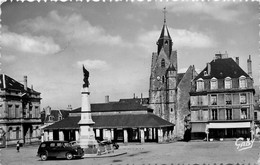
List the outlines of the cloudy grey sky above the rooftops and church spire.
{"label": "cloudy grey sky above the rooftops and church spire", "polygon": [[81,106],[82,65],[90,102],[148,97],[152,53],[163,25],[178,53],[178,72],[199,72],[215,53],[239,57],[260,84],[258,2],[5,2],[1,5],[1,73],[41,92],[41,107]]}

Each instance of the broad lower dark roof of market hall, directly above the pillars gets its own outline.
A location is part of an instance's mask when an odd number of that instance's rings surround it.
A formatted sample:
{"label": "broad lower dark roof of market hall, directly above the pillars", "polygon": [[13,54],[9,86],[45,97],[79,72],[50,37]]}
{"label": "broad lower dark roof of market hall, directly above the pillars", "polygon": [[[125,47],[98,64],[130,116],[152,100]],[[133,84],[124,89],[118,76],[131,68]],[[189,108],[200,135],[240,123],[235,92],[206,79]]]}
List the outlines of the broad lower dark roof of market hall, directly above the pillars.
{"label": "broad lower dark roof of market hall, directly above the pillars", "polygon": [[[44,129],[79,129],[78,122],[80,118],[80,116],[71,116]],[[93,128],[159,128],[174,126],[174,124],[152,113],[100,115],[92,116],[92,120],[95,122]]]}

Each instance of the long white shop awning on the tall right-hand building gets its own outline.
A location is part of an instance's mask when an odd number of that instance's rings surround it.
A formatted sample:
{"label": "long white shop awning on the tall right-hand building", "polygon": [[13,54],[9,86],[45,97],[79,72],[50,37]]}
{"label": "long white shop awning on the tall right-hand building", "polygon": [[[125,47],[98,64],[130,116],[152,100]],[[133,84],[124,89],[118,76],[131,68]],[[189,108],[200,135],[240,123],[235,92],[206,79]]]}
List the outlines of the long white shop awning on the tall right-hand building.
{"label": "long white shop awning on the tall right-hand building", "polygon": [[250,128],[250,122],[234,122],[234,123],[209,123],[209,129],[218,128]]}

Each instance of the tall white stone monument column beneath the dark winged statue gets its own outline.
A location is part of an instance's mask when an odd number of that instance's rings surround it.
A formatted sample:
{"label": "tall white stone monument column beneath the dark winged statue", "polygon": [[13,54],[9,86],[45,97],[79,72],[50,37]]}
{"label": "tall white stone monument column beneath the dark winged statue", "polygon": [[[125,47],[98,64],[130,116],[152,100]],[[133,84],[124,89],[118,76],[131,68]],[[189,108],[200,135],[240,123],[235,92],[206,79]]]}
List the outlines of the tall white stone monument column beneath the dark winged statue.
{"label": "tall white stone monument column beneath the dark winged statue", "polygon": [[85,154],[96,154],[98,143],[92,128],[95,122],[93,122],[91,118],[89,95],[90,92],[88,87],[83,88],[81,92],[81,119],[78,123],[80,126],[79,144],[84,149]]}

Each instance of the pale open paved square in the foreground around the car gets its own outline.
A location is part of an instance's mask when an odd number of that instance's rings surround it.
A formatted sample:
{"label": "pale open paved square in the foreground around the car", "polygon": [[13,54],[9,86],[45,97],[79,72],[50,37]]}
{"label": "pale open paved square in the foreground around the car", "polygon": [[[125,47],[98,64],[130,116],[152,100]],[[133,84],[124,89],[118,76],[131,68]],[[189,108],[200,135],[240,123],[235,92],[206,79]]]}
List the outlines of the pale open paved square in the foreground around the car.
{"label": "pale open paved square in the foreground around the car", "polygon": [[84,158],[77,160],[47,160],[36,157],[38,146],[22,147],[19,153],[16,148],[1,149],[1,165],[105,165],[105,164],[257,164],[260,142],[252,148],[238,151],[235,141],[225,142],[175,142],[168,144],[129,144],[120,145],[126,155],[107,158]]}

